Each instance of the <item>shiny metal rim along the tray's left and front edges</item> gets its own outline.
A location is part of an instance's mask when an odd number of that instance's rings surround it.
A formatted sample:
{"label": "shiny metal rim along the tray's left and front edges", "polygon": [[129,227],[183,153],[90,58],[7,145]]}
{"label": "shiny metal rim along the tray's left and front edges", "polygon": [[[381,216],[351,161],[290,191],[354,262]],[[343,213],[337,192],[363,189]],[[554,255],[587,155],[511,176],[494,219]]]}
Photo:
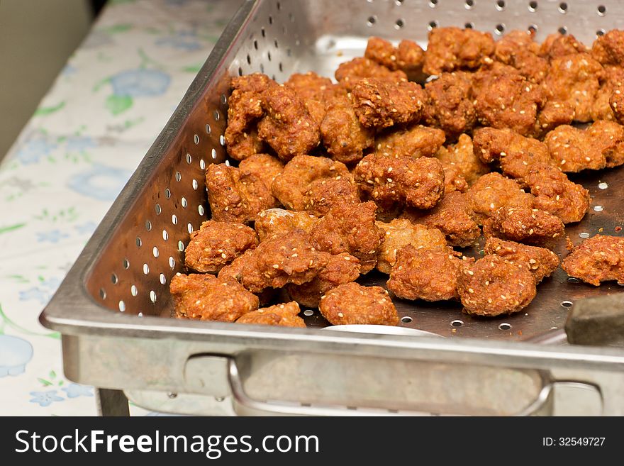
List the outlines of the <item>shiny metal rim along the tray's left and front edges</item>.
{"label": "shiny metal rim along the tray's left and front edges", "polygon": [[[155,139],[145,157],[111,205],[89,242],[80,253],[52,300],[45,306],[39,320],[43,326],[62,335],[98,335],[111,338],[174,338],[177,340],[224,341],[250,348],[288,348],[326,353],[386,355],[415,357],[428,355],[469,355],[487,364],[517,366],[535,364],[549,367],[556,361],[575,368],[622,370],[624,349],[587,346],[549,347],[523,341],[485,340],[479,338],[411,338],[400,335],[324,332],[321,329],[274,328],[269,326],[231,326],[229,323],[182,321],[152,316],[117,313],[99,305],[87,292],[86,279],[101,255],[101,245],[110,240],[115,225],[137,199],[143,184],[150,178],[174,142],[189,111],[211,80],[216,79],[225,55],[242,39],[245,24],[263,0],[245,0],[225,27],[221,37],[172,113],[165,128]],[[229,346],[229,345],[228,345]],[[419,357],[422,357],[420,355]],[[500,360],[493,360],[499,357]]]}

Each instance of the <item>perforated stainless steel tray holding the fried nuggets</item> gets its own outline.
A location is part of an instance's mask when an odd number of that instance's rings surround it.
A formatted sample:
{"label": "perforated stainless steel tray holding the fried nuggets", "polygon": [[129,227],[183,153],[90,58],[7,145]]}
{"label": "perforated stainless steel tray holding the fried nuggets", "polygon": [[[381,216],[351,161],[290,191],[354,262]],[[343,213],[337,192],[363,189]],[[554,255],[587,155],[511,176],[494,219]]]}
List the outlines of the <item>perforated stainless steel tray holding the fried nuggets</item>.
{"label": "perforated stainless steel tray holding the fried nuggets", "polygon": [[[459,305],[398,303],[401,326],[445,339],[326,332],[314,328],[326,324],[318,312],[307,317],[305,330],[166,318],[169,279],[182,271],[184,243],[208,212],[206,165],[226,160],[231,75],[331,76],[338,63],[362,55],[369,35],[425,45],[436,26],[469,25],[494,35],[531,27],[538,40],[559,28],[591,44],[596,33],[623,24],[617,1],[246,1],[40,317],[63,335],[67,377],[123,389],[143,406],[203,414],[232,407],[564,413],[580,406],[564,401],[569,390],[594,400],[592,414],[624,414],[615,396],[624,390],[624,351],[523,341],[562,328],[575,301],[622,290],[571,283],[561,270],[516,316],[484,320],[462,315]],[[594,201],[586,219],[568,228],[573,239],[600,228],[618,234],[621,176],[610,170],[577,180]],[[385,279],[371,274],[364,281]]]}

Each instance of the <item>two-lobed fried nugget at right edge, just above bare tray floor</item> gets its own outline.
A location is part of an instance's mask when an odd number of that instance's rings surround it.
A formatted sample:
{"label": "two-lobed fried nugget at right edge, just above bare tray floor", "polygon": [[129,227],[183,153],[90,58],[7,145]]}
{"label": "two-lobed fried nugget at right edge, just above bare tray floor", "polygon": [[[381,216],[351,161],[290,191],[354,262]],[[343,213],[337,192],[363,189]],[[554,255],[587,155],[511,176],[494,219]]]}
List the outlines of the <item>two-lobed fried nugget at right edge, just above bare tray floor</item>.
{"label": "two-lobed fried nugget at right edge, just above bare tray floor", "polygon": [[624,163],[624,127],[615,121],[596,121],[584,130],[559,126],[544,141],[562,172],[601,170]]}

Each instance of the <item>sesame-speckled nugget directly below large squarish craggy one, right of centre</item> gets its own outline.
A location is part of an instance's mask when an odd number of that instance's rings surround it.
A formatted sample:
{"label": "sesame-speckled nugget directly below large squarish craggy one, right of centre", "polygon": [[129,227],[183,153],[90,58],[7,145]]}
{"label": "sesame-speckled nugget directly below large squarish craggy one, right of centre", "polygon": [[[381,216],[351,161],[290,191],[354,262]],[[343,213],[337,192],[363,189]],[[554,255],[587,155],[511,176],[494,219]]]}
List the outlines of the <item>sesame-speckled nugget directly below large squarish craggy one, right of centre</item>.
{"label": "sesame-speckled nugget directly below large squarish craggy one, right of centre", "polygon": [[479,128],[474,131],[472,143],[474,153],[483,162],[499,160],[503,173],[520,184],[536,163],[552,163],[544,143],[509,129]]}

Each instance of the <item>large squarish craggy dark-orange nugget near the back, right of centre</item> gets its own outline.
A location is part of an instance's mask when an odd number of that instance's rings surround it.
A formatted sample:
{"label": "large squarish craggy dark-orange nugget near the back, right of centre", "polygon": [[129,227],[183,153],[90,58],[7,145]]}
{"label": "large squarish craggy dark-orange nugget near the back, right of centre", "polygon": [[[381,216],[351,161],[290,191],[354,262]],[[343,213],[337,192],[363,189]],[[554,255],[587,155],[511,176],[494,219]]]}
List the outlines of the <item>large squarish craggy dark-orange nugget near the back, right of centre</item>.
{"label": "large squarish craggy dark-orange nugget near the back, right of centre", "polygon": [[537,112],[544,106],[542,87],[518,72],[496,74],[479,72],[481,84],[474,93],[474,108],[483,126],[509,128],[521,135],[535,131]]}

